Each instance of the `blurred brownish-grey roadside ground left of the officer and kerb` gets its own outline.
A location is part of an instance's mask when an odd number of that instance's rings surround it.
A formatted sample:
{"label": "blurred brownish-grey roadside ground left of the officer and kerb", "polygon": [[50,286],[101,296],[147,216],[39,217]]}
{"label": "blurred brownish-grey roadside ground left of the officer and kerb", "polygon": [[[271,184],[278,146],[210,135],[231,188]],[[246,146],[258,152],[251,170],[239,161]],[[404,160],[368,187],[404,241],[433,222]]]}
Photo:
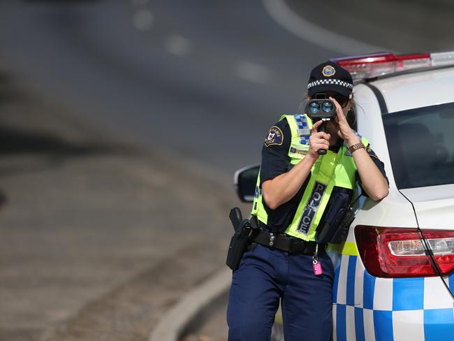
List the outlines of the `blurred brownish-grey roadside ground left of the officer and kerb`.
{"label": "blurred brownish-grey roadside ground left of the officer and kerb", "polygon": [[147,340],[224,266],[233,190],[2,79],[0,340]]}

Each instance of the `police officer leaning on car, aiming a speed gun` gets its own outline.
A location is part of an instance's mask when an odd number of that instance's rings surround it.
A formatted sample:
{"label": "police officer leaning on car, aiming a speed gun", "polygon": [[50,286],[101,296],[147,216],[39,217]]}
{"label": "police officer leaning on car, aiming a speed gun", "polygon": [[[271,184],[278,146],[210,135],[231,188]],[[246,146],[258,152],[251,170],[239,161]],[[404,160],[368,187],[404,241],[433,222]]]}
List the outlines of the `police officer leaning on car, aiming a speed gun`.
{"label": "police officer leaning on car, aiming a speed gun", "polygon": [[346,119],[353,106],[349,72],[325,62],[312,70],[307,88],[310,98],[328,96],[337,116],[323,132],[322,122],[307,115],[283,115],[265,138],[252,210],[260,233],[233,272],[230,341],[270,340],[279,300],[286,341],[331,340],[334,269],[326,240],[317,239],[320,229],[339,222],[357,178],[372,200],[388,194],[383,163]]}

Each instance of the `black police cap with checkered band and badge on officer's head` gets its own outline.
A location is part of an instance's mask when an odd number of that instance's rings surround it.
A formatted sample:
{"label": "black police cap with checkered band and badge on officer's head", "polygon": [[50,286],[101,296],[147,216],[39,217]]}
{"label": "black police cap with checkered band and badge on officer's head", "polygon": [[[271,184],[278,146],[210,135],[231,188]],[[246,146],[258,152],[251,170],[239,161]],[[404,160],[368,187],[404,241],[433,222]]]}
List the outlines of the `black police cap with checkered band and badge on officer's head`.
{"label": "black police cap with checkered band and badge on officer's head", "polygon": [[352,90],[353,80],[349,71],[332,61],[314,67],[307,84],[309,96],[314,96],[318,92],[332,91],[348,97]]}

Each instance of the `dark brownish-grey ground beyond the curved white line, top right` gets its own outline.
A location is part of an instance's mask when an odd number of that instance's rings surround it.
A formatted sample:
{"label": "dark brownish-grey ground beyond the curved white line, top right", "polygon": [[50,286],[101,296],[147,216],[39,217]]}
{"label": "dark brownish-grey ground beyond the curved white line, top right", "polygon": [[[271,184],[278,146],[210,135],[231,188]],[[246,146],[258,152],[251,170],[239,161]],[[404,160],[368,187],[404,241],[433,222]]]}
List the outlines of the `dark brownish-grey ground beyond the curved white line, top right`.
{"label": "dark brownish-grey ground beyond the curved white line, top right", "polygon": [[454,48],[452,1],[284,1],[305,20],[387,51],[427,53]]}

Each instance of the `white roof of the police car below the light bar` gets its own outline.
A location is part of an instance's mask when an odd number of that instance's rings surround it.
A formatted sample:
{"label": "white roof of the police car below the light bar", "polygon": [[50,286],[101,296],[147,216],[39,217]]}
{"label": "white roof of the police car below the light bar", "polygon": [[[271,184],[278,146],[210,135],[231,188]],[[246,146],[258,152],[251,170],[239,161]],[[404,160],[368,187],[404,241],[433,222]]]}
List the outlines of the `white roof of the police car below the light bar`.
{"label": "white roof of the police car below the light bar", "polygon": [[379,90],[388,113],[454,102],[454,66],[392,75],[367,84]]}

